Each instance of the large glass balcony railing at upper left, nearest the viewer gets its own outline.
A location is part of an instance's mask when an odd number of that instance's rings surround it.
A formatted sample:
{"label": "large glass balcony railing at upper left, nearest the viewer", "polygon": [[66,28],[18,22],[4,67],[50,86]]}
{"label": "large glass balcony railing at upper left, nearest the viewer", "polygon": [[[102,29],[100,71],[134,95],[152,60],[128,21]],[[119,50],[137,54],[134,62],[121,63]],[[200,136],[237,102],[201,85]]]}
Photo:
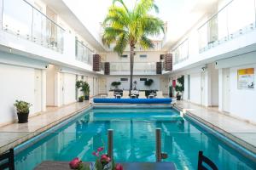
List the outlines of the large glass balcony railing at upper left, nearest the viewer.
{"label": "large glass balcony railing at upper left, nearest the viewer", "polygon": [[63,52],[64,29],[25,0],[0,0],[3,31]]}

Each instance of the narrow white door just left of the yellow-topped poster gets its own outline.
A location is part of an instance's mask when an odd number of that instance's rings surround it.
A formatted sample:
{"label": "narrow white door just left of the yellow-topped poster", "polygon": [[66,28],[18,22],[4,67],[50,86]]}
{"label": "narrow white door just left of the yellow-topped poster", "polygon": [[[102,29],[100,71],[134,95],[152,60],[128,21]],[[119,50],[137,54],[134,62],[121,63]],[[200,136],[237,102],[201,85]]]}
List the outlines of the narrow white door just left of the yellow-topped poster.
{"label": "narrow white door just left of the yellow-topped poster", "polygon": [[230,112],[230,69],[224,69],[224,111]]}

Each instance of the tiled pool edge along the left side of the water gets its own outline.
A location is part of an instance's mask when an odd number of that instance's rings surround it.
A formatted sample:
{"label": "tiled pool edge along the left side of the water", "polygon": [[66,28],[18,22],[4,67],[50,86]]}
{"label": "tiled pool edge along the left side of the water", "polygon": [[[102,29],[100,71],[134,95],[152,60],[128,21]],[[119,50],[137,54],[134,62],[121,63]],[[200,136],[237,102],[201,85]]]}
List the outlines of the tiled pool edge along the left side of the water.
{"label": "tiled pool edge along the left side of the water", "polygon": [[[32,132],[32,133],[28,133],[27,135],[21,137],[20,139],[15,139],[14,141],[12,142],[9,142],[9,144],[5,144],[3,145],[1,148],[0,148],[0,154],[1,153],[4,153],[5,151],[9,150],[10,148],[15,148],[17,146],[20,146],[21,144],[24,144],[26,143],[27,141],[29,141],[30,139],[33,139],[37,136],[39,136],[40,134],[42,133],[45,133],[46,131],[48,131],[49,129],[51,128],[55,128],[57,125],[61,124],[62,122],[66,122],[66,121],[69,121],[69,120],[72,120],[70,119],[71,117],[75,117],[75,116],[78,116],[82,111],[84,110],[90,110],[92,108],[92,105],[84,105],[82,108],[80,108],[79,110],[77,111],[73,111],[71,112],[70,114],[68,114],[67,116],[63,116],[61,117],[59,120],[55,121],[55,122],[51,122],[49,123],[48,125],[44,126],[44,127],[40,127],[38,128],[36,131]],[[22,133],[22,132],[20,132]],[[17,150],[15,148],[15,153],[17,151],[20,151],[20,150]]]}

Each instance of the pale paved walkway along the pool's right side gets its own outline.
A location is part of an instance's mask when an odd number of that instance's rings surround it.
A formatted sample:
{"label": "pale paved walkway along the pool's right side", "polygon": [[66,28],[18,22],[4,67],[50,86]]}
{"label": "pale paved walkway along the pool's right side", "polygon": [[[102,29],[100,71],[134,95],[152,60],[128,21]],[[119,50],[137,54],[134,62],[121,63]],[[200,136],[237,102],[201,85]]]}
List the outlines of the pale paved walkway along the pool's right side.
{"label": "pale paved walkway along the pool's right side", "polygon": [[186,101],[177,101],[175,107],[256,153],[256,125]]}

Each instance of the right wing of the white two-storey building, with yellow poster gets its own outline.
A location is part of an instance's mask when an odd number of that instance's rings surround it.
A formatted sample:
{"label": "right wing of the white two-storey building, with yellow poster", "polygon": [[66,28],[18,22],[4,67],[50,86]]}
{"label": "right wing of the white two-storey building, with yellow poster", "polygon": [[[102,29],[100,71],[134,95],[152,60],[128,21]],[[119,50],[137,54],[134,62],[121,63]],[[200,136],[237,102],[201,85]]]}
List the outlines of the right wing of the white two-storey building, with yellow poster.
{"label": "right wing of the white two-storey building, with yellow poster", "polygon": [[183,75],[183,99],[256,122],[255,42],[255,1],[217,1],[177,42],[163,42],[170,84]]}

